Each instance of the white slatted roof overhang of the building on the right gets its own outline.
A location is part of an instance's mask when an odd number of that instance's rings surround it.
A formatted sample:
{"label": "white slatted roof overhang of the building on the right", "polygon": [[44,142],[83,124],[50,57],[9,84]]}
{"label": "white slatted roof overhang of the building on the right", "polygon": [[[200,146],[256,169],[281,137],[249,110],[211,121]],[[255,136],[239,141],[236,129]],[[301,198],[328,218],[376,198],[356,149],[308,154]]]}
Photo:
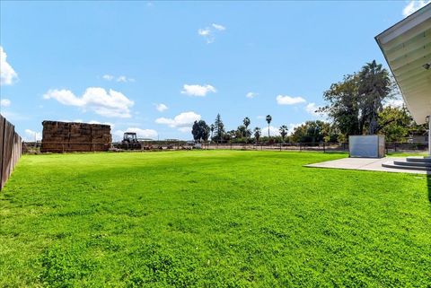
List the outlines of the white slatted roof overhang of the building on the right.
{"label": "white slatted roof overhang of the building on the right", "polygon": [[[418,124],[431,115],[431,4],[375,37]],[[424,66],[425,65],[425,66]]]}

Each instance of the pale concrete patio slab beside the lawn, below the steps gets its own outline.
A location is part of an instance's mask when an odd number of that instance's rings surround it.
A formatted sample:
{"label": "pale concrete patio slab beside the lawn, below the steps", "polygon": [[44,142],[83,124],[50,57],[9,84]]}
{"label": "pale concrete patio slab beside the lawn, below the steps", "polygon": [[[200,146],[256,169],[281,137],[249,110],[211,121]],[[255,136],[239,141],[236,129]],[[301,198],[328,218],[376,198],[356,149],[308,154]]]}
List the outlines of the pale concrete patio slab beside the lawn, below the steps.
{"label": "pale concrete patio slab beside the lawn, below the steps", "polygon": [[408,170],[383,167],[384,162],[406,160],[405,157],[384,157],[380,159],[375,158],[343,158],[332,161],[324,161],[304,165],[305,167],[314,168],[335,168],[347,170],[370,170],[370,171],[384,171],[384,172],[398,172],[398,173],[414,173],[414,174],[430,174],[429,171],[424,170]]}

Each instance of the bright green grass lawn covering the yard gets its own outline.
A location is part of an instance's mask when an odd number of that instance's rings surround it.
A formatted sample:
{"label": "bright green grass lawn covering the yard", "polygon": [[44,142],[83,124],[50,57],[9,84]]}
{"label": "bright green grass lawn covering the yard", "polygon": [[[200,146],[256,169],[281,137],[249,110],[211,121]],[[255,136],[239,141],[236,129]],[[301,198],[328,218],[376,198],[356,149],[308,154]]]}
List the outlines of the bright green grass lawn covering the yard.
{"label": "bright green grass lawn covering the yard", "polygon": [[0,287],[430,287],[430,179],[303,167],[345,156],[23,156]]}

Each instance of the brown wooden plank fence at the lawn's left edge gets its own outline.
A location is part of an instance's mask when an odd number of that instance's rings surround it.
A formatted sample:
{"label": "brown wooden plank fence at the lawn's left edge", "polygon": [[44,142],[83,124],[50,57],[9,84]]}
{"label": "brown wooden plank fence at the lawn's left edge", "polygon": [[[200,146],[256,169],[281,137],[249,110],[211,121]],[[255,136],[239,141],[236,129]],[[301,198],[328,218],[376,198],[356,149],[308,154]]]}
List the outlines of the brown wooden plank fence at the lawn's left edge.
{"label": "brown wooden plank fence at the lawn's left edge", "polygon": [[21,157],[22,139],[15,127],[0,115],[0,190],[11,176],[13,168]]}

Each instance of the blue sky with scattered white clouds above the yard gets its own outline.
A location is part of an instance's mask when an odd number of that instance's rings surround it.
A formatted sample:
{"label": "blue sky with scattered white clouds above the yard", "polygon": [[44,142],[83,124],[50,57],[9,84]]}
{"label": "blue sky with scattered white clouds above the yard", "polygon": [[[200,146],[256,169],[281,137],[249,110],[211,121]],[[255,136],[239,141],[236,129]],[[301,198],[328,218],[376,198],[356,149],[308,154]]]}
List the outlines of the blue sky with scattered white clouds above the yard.
{"label": "blue sky with scattered white clouds above the yard", "polygon": [[43,120],[190,139],[217,113],[227,129],[270,114],[275,133],[320,118],[343,74],[384,63],[374,36],[423,4],[2,1],[1,113],[27,139]]}

